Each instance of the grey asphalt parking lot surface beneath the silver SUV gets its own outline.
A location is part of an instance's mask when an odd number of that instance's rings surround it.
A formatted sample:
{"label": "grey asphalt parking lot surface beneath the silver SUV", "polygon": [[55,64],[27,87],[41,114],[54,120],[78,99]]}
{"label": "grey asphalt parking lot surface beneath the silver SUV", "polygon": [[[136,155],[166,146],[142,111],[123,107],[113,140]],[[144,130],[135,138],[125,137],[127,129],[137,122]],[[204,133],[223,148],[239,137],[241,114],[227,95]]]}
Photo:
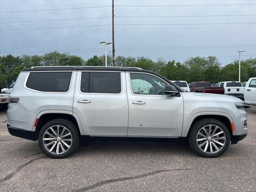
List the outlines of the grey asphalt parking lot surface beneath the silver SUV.
{"label": "grey asphalt parking lot surface beneath the silver SUV", "polygon": [[256,108],[248,136],[219,158],[186,143],[90,142],[68,158],[42,154],[38,142],[11,136],[0,112],[0,191],[256,191]]}

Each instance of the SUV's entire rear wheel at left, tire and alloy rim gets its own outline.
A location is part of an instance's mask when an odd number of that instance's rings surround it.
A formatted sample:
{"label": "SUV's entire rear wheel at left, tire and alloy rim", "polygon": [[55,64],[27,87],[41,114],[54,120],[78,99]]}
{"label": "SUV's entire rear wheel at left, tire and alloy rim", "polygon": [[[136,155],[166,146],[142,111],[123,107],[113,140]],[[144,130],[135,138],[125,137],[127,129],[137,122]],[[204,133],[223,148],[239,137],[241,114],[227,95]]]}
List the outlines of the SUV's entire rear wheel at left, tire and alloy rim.
{"label": "SUV's entire rear wheel at left, tire and alloy rim", "polygon": [[72,154],[79,144],[76,126],[65,119],[47,122],[38,134],[38,144],[47,156],[65,158]]}

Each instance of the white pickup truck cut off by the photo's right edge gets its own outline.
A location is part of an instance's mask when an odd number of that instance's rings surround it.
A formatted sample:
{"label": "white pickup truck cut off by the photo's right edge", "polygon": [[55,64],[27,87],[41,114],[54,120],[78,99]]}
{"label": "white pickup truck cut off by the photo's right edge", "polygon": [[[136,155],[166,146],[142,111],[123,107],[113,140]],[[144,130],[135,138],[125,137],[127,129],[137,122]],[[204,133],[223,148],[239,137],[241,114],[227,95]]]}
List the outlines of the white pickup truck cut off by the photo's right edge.
{"label": "white pickup truck cut off by the photo's right edge", "polygon": [[256,77],[250,78],[244,87],[244,105],[256,107]]}

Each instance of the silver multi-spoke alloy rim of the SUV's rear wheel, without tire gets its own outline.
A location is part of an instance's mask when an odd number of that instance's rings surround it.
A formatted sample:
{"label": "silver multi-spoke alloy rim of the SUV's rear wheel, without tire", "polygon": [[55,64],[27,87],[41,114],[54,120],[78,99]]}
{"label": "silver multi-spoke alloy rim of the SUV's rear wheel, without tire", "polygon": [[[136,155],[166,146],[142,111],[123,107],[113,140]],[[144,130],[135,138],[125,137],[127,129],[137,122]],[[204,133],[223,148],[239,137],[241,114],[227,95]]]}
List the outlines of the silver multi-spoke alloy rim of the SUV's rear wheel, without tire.
{"label": "silver multi-spoke alloy rim of the SUV's rear wheel, without tire", "polygon": [[63,154],[72,144],[70,131],[61,125],[51,126],[44,132],[43,144],[52,154]]}

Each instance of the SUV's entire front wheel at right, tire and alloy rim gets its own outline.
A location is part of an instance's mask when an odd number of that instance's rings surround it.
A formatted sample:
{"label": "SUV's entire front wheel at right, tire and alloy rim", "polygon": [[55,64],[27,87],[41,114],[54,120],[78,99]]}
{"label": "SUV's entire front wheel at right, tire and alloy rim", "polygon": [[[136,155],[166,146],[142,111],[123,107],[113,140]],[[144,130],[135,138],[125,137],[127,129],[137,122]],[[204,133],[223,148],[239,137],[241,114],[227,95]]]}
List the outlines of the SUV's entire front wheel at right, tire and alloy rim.
{"label": "SUV's entire front wheel at right, tire and alloy rim", "polygon": [[215,119],[202,119],[196,122],[190,130],[188,141],[194,152],[203,157],[218,157],[230,144],[228,128]]}

